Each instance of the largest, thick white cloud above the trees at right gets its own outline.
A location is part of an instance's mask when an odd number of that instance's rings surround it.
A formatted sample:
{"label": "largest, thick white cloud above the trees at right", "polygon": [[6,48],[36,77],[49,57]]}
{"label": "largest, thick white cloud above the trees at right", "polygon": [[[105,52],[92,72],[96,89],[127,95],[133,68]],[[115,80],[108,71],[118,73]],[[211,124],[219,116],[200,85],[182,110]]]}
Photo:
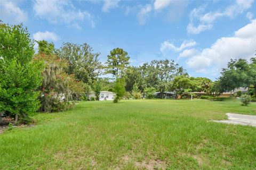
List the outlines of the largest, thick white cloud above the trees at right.
{"label": "largest, thick white cloud above the trees at right", "polygon": [[256,20],[234,32],[232,37],[222,37],[210,48],[203,49],[187,61],[187,65],[196,71],[202,69],[220,70],[227,66],[231,58],[249,59],[256,47]]}

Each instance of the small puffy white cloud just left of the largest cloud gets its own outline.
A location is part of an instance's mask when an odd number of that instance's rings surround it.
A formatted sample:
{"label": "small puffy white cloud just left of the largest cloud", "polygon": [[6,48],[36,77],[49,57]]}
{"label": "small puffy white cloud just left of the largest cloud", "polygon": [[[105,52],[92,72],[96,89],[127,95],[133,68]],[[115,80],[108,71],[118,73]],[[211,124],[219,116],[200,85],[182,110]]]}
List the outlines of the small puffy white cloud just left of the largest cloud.
{"label": "small puffy white cloud just left of the largest cloud", "polygon": [[173,50],[175,52],[180,52],[187,47],[193,47],[196,45],[196,41],[194,40],[184,40],[180,47],[176,47],[174,44],[170,43],[170,41],[166,40],[161,44],[160,50],[162,53]]}

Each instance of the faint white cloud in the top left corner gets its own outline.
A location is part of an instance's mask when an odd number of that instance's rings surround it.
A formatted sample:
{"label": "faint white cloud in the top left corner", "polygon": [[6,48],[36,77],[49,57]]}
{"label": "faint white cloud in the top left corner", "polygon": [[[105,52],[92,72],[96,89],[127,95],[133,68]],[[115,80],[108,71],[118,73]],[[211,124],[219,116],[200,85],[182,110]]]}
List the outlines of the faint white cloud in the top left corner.
{"label": "faint white cloud in the top left corner", "polygon": [[26,22],[28,19],[27,13],[22,11],[13,2],[1,1],[0,3],[0,16],[4,22],[12,24],[20,24]]}

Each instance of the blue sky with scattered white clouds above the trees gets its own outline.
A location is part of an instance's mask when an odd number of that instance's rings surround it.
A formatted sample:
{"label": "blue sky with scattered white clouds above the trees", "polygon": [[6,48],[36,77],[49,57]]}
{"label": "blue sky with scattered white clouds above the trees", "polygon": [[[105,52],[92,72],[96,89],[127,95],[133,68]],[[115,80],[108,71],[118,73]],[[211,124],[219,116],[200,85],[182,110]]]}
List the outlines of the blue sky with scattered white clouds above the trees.
{"label": "blue sky with scattered white clouds above the trees", "polygon": [[189,75],[219,77],[230,58],[256,50],[256,3],[240,1],[0,1],[0,19],[36,40],[89,44],[106,62],[126,50],[131,65],[169,59]]}

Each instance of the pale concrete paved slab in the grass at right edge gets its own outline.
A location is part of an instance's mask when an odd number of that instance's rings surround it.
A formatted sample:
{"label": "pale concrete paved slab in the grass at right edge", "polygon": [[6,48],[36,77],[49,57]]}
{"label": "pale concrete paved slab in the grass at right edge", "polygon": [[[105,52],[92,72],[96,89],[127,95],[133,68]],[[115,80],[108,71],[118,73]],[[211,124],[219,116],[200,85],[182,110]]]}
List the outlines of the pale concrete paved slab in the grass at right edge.
{"label": "pale concrete paved slab in the grass at right edge", "polygon": [[213,122],[228,123],[228,124],[251,125],[251,126],[256,127],[256,116],[235,114],[235,113],[226,113],[226,115],[228,116],[228,120],[213,121]]}

